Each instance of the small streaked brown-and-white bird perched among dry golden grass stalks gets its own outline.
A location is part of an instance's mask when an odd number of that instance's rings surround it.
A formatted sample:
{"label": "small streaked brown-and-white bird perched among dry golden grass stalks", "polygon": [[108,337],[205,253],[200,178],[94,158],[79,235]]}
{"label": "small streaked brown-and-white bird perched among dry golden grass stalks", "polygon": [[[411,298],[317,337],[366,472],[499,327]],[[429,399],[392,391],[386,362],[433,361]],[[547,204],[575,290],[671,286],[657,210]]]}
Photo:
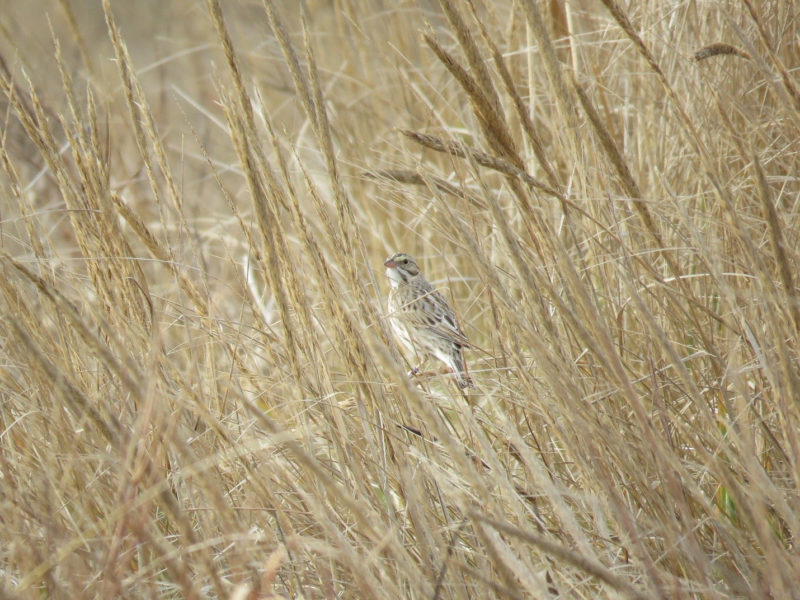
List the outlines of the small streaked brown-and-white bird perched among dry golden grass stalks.
{"label": "small streaked brown-and-white bird perched among dry golden grass stalks", "polygon": [[[472,387],[461,355],[470,345],[447,300],[425,280],[408,254],[395,254],[383,265],[391,286],[389,317],[395,335],[423,362],[434,356],[450,367],[460,387]],[[419,365],[412,373],[419,373]]]}

